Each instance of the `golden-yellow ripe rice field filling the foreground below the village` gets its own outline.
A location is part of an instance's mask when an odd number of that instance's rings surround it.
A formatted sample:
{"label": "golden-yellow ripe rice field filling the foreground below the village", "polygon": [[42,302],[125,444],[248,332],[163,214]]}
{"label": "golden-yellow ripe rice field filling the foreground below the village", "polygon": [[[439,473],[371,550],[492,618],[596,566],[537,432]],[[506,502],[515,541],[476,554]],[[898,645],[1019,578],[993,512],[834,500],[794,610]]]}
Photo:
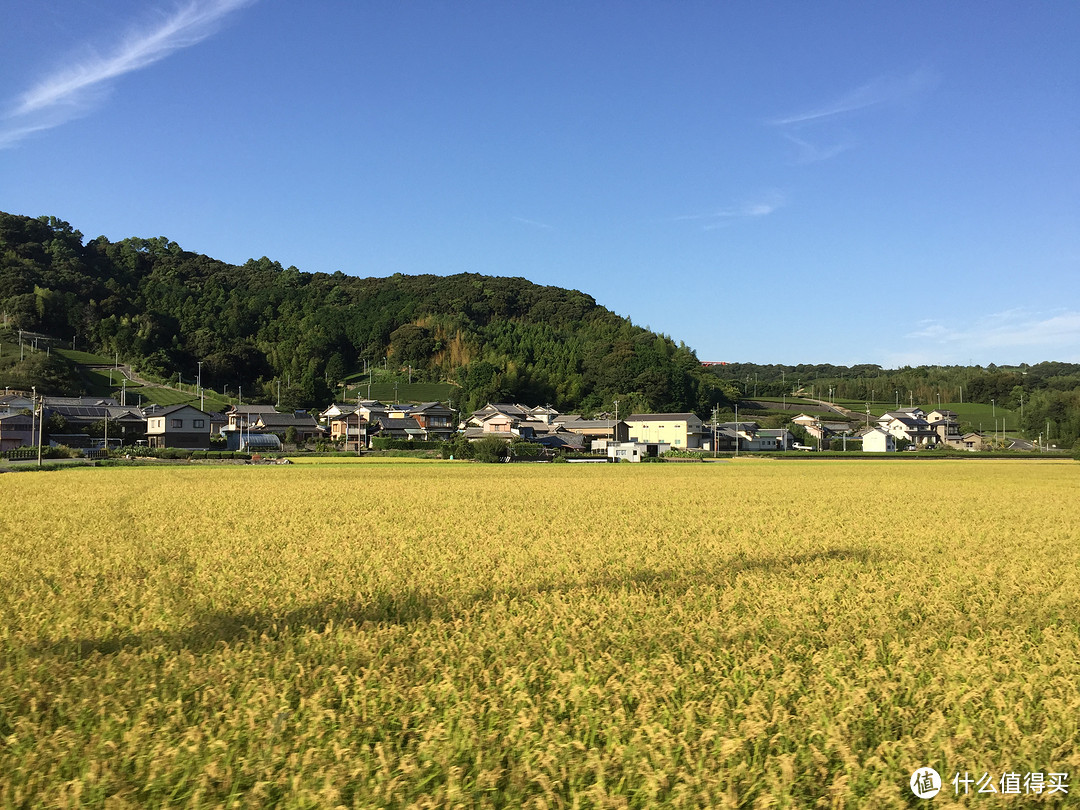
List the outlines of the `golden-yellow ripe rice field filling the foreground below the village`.
{"label": "golden-yellow ripe rice field filling the foreground below the village", "polygon": [[1078,502],[1072,461],[0,475],[0,807],[1057,807]]}

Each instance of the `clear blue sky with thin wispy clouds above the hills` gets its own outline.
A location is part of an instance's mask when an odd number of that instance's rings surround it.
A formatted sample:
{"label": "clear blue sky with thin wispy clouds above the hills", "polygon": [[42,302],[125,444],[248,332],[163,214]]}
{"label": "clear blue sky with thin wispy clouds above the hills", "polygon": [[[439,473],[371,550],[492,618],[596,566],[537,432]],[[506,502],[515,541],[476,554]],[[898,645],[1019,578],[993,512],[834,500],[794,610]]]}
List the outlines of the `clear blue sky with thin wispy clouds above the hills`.
{"label": "clear blue sky with thin wispy clouds above the hills", "polygon": [[0,210],[573,287],[702,360],[1080,362],[1080,3],[0,0]]}

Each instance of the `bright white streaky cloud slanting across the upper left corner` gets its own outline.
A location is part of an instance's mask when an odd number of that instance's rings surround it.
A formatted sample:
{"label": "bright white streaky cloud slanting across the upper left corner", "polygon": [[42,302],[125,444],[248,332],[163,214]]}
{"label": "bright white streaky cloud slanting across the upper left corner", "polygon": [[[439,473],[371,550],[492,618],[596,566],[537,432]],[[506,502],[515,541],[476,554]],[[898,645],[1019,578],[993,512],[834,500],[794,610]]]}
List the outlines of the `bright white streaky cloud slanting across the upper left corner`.
{"label": "bright white streaky cloud slanting across the upper left corner", "polygon": [[65,65],[18,96],[0,119],[0,147],[85,114],[111,81],[201,42],[227,14],[254,1],[191,0],[157,24],[129,31],[109,53]]}

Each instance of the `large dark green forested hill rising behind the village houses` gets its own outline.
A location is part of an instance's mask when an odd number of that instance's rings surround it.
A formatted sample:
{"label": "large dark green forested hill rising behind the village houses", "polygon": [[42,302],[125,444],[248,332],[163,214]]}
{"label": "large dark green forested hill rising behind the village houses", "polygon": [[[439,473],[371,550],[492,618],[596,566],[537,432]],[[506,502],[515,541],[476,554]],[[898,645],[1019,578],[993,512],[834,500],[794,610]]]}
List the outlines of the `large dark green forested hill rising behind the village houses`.
{"label": "large dark green forested hill rising behind the village houses", "polygon": [[[462,388],[460,406],[514,400],[562,410],[697,410],[728,384],[692,350],[524,279],[473,274],[359,279],[262,258],[243,266],[165,238],[82,234],[55,217],[0,213],[0,318],[203,383],[282,404],[330,401],[364,362]],[[249,395],[248,395],[249,396]],[[247,396],[245,396],[247,399]],[[458,404],[458,403],[456,403]]]}

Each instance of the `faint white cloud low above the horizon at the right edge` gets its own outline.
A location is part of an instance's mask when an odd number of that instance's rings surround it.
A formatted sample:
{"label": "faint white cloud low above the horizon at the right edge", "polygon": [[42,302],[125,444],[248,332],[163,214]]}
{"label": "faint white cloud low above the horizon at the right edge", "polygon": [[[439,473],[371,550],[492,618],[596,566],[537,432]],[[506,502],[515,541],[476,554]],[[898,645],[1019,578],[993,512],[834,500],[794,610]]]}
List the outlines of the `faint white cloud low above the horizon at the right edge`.
{"label": "faint white cloud low above the horizon at the right edge", "polygon": [[1030,355],[1035,350],[1045,354],[1023,360],[1077,362],[1080,361],[1080,312],[1012,309],[971,323],[920,321],[905,337],[933,347],[948,362],[963,361],[974,353],[999,355],[993,362],[1012,362],[1021,360],[1021,352]]}

